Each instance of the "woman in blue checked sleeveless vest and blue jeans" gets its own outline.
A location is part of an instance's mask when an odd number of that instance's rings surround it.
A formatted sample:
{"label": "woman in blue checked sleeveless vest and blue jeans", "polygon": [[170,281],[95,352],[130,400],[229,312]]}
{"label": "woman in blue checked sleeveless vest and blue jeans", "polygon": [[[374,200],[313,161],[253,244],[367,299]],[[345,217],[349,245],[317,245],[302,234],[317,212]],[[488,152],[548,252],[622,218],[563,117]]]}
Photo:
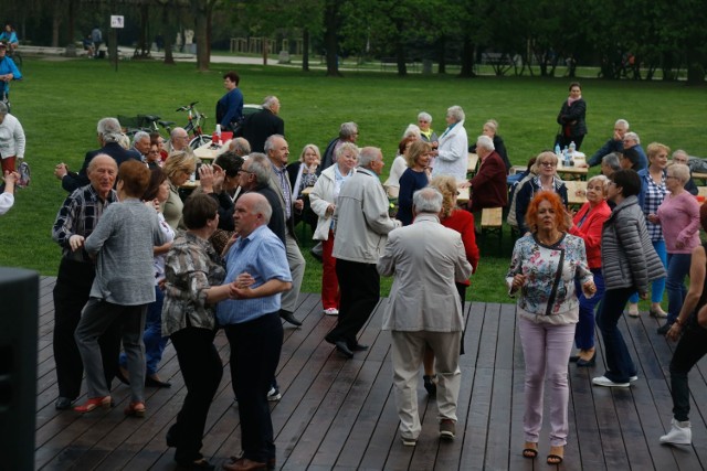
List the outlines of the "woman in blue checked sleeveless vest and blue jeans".
{"label": "woman in blue checked sleeveless vest and blue jeans", "polygon": [[[667,194],[666,176],[667,176],[667,154],[671,149],[658,142],[648,144],[648,168],[639,170],[641,178],[641,193],[639,194],[639,206],[643,210],[646,218],[646,227],[653,248],[661,257],[663,266],[667,267],[667,253],[665,250],[665,239],[659,224],[652,222],[648,215],[655,214],[658,206],[663,204],[663,200]],[[661,302],[663,301],[663,291],[665,291],[665,278],[658,278],[651,286],[651,309],[650,314],[656,318],[666,318],[667,313],[663,311]],[[629,315],[639,317],[639,295],[634,293],[629,300]]]}

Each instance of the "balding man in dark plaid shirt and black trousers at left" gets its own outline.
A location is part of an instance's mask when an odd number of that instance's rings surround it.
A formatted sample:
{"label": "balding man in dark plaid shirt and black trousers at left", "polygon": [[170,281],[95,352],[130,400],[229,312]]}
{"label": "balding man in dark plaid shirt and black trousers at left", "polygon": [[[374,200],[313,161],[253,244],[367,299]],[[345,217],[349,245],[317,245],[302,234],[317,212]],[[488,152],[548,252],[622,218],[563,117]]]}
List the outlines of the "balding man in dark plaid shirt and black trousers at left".
{"label": "balding man in dark plaid shirt and black trousers at left", "polygon": [[[97,154],[88,163],[87,170],[91,184],[66,197],[52,228],[52,238],[62,247],[62,260],[54,285],[53,340],[59,386],[59,398],[54,406],[60,410],[71,408],[78,397],[84,373],[74,331],[81,320],[81,311],[88,301],[96,268],[82,240],[93,233],[106,207],[118,200],[113,190],[118,167],[110,156]],[[119,331],[115,330],[101,340],[108,384],[108,378],[113,378],[117,367],[118,335]]]}

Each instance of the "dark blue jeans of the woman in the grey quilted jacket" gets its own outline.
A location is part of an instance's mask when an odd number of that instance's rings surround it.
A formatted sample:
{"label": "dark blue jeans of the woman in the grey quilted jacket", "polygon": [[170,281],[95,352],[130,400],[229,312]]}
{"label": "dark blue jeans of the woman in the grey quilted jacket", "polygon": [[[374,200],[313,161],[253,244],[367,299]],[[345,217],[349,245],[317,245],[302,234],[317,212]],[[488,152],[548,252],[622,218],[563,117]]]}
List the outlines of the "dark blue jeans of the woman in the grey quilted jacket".
{"label": "dark blue jeans of the woman in the grey quilted jacket", "polygon": [[614,383],[629,383],[631,376],[636,374],[636,367],[631,360],[626,342],[619,330],[619,318],[623,313],[623,308],[635,287],[608,289],[604,298],[599,304],[597,313],[597,327],[604,341],[604,353],[606,356],[606,376]]}

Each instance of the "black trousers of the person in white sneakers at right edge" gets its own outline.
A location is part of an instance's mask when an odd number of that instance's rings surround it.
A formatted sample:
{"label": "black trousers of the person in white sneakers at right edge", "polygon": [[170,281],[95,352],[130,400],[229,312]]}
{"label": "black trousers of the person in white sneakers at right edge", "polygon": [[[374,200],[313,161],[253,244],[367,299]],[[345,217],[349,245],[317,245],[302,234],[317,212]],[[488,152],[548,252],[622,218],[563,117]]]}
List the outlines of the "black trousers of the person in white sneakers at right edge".
{"label": "black trousers of the person in white sneakers at right edge", "polygon": [[685,332],[675,347],[671,361],[671,394],[673,395],[673,417],[689,420],[689,385],[687,373],[707,353],[707,330],[697,323],[695,314],[685,325]]}

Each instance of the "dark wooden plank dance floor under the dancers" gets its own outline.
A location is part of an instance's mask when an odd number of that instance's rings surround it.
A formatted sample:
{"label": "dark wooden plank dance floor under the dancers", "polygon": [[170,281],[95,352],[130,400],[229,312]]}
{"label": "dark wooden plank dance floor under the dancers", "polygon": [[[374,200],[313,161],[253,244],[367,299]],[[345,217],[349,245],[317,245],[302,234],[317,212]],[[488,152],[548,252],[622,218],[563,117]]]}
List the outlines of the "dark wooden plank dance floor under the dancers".
{"label": "dark wooden plank dance floor under the dancers", "polygon": [[[116,407],[86,416],[56,411],[52,356],[54,278],[42,278],[39,327],[35,468],[41,470],[173,470],[165,445],[186,389],[175,351],[167,347],[159,374],[169,389],[147,389],[145,419],[123,416],[129,393],[113,388]],[[296,315],[302,329],[285,329],[277,381],[283,393],[272,404],[277,467],[283,470],[532,470],[545,464],[548,427],[539,459],[520,457],[523,447],[524,360],[511,304],[467,303],[466,354],[457,438],[437,440],[436,404],[428,402],[420,381],[422,435],[415,448],[401,445],[392,395],[390,339],[381,332],[381,300],[361,343],[371,349],[344,360],[324,342],[336,318],[321,314],[318,295],[303,295]],[[655,333],[658,322],[642,315],[621,328],[639,364],[640,379],[630,389],[592,387],[603,373],[570,366],[570,436],[567,470],[699,470],[707,467],[707,363],[690,373],[692,447],[663,447],[658,437],[669,427],[668,364],[674,344]],[[203,453],[215,463],[240,451],[238,405],[228,368],[223,334],[217,346],[224,375],[211,406]],[[116,382],[117,383],[117,382]],[[85,398],[82,397],[82,400]]]}

